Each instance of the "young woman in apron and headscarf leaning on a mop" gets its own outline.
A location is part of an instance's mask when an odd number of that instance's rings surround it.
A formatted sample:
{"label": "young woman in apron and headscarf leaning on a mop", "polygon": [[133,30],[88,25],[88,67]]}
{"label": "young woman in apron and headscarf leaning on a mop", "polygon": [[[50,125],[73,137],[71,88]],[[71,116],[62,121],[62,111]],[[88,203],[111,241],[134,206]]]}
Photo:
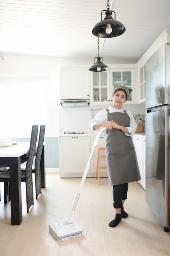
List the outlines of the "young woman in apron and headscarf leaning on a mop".
{"label": "young woman in apron and headscarf leaning on a mop", "polygon": [[116,210],[110,227],[116,227],[121,218],[128,217],[124,211],[127,199],[128,182],[141,180],[132,135],[137,124],[130,111],[122,108],[132,89],[115,85],[113,88],[113,106],[100,110],[95,119],[88,124],[88,130],[106,127],[106,164],[108,185],[113,185],[113,207]]}

